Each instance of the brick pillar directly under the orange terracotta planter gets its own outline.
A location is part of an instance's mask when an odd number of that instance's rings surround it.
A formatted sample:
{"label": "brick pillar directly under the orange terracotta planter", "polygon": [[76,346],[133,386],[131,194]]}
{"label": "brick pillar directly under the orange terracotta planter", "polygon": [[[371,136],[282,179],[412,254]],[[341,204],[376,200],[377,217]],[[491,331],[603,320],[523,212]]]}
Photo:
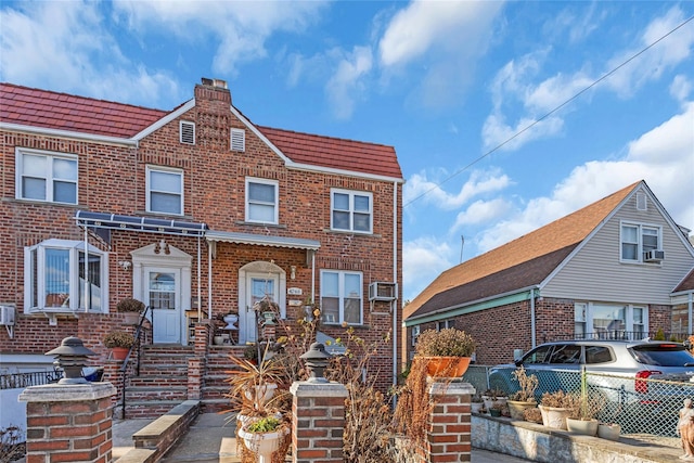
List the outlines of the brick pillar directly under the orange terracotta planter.
{"label": "brick pillar directly under the orange terracotta planter", "polygon": [[471,402],[475,388],[470,383],[450,378],[435,381],[429,399],[436,406],[429,414],[426,461],[470,462]]}

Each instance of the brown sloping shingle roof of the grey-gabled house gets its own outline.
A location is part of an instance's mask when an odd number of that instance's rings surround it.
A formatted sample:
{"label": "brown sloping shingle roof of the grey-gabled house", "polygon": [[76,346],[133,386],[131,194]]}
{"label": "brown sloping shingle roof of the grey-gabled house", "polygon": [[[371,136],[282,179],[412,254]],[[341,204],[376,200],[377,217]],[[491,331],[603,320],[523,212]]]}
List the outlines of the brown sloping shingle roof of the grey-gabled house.
{"label": "brown sloping shingle roof of the grey-gabled house", "polygon": [[446,270],[404,307],[403,318],[539,284],[639,183]]}

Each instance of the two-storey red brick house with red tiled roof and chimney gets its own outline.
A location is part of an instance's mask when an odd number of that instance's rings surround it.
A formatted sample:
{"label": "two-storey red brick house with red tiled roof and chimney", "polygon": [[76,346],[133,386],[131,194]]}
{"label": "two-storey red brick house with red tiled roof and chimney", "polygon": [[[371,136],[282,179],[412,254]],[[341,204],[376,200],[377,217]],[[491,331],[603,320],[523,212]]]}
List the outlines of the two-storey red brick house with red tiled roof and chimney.
{"label": "two-storey red brick house with red tiled roof and chimney", "polygon": [[172,111],[0,92],[0,305],[16,312],[3,366],[40,363],[69,335],[103,363],[126,297],[152,307],[154,345],[189,348],[198,316],[231,311],[243,346],[268,296],[291,321],[320,304],[325,336],[348,324],[381,342],[377,384],[397,377],[397,336],[382,340],[402,323],[391,146],[255,125],[217,79]]}

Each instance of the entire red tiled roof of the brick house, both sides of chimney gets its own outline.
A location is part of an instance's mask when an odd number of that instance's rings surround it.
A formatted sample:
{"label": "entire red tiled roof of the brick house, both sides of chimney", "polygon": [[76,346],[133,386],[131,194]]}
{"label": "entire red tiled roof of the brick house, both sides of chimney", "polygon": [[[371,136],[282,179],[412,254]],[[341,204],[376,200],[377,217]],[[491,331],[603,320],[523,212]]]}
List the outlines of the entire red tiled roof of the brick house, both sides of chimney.
{"label": "entire red tiled roof of the brick house, both sides of chimney", "polygon": [[[170,112],[0,83],[0,121],[129,139]],[[402,178],[393,146],[258,127],[290,159]]]}

